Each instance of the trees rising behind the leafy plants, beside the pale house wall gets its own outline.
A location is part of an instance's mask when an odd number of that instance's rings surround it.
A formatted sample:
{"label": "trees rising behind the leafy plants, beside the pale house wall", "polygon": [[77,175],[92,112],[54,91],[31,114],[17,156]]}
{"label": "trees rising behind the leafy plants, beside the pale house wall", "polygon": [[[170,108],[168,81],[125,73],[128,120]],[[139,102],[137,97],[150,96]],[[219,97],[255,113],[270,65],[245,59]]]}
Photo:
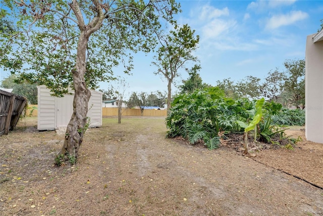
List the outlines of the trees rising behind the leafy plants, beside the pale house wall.
{"label": "trees rising behind the leafy plants, beside the pale house wall", "polygon": [[217,81],[217,86],[228,97],[266,98],[268,101],[280,102],[284,106],[305,106],[305,61],[285,60],[284,71],[278,68],[268,72],[264,79],[247,76],[238,82],[224,79]]}

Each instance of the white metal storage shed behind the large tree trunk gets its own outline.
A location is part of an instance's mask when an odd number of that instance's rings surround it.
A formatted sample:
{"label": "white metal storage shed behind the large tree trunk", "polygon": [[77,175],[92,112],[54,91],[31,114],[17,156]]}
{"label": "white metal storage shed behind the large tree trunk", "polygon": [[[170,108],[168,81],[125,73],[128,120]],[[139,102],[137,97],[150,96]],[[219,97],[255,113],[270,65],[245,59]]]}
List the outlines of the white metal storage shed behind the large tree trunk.
{"label": "white metal storage shed behind the large tree trunk", "polygon": [[[50,90],[45,85],[37,86],[38,89],[38,130],[56,130],[67,127],[73,114],[74,90],[72,94],[64,97],[50,95]],[[88,102],[87,117],[90,118],[90,127],[102,126],[102,92],[90,90],[91,97]]]}

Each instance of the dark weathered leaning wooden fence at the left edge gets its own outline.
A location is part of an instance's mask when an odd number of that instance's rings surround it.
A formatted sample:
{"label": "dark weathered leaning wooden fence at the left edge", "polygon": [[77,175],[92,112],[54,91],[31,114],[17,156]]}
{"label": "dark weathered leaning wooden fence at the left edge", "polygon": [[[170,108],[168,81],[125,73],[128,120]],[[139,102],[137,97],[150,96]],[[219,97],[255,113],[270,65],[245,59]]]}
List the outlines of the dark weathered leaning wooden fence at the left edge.
{"label": "dark weathered leaning wooden fence at the left edge", "polygon": [[0,90],[0,136],[14,129],[26,102],[23,96]]}

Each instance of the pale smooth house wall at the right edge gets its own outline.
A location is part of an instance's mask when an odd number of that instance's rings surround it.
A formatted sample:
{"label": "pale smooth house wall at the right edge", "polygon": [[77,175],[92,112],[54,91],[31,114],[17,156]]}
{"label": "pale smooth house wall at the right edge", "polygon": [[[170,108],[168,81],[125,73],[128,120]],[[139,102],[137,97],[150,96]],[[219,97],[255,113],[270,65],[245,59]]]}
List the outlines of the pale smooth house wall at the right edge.
{"label": "pale smooth house wall at the right edge", "polygon": [[305,136],[323,143],[323,29],[306,40]]}

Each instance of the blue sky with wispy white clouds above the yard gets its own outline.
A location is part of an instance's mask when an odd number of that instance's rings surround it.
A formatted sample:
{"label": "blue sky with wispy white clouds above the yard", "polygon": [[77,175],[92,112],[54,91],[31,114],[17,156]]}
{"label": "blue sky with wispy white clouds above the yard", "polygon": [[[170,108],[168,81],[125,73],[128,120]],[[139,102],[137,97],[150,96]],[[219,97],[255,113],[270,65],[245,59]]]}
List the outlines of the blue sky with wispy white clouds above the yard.
{"label": "blue sky with wispy white clouds above the yard", "polygon": [[[264,79],[271,70],[283,71],[285,60],[304,59],[306,37],[317,32],[323,19],[323,0],[178,2],[182,13],[176,19],[200,36],[194,55],[200,61],[203,82],[213,86],[226,78]],[[166,79],[153,74],[157,68],[151,66],[152,57],[153,53],[136,53],[132,76],[116,69],[115,75],[129,84],[126,98],[134,91],[167,91]],[[180,74],[177,86],[188,78],[185,70]],[[8,76],[0,71],[0,81]],[[99,85],[107,90],[115,83]],[[172,93],[176,91],[172,86]]]}

